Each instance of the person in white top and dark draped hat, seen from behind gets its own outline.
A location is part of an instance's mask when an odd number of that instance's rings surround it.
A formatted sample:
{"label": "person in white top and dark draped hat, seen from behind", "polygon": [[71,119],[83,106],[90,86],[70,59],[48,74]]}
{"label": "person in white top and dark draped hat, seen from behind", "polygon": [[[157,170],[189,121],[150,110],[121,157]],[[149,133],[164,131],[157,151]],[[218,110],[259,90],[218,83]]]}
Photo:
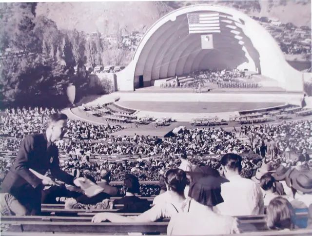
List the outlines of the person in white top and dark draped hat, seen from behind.
{"label": "person in white top and dark draped hat, seen from behind", "polygon": [[221,235],[239,233],[232,216],[222,216],[213,207],[223,202],[220,185],[228,182],[221,177],[206,176],[190,185],[191,201],[183,213],[171,217],[167,235]]}

